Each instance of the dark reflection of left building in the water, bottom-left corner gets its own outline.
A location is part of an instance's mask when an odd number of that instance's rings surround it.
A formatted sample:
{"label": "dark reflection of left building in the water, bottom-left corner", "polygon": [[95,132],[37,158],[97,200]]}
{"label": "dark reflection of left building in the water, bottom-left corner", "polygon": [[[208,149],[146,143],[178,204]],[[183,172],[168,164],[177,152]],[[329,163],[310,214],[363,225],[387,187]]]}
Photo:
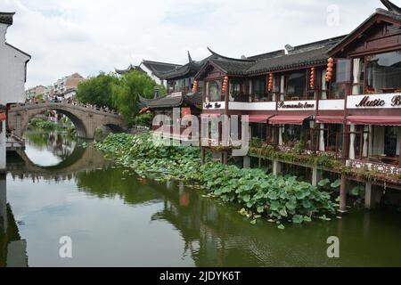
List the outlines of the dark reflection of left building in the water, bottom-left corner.
{"label": "dark reflection of left building in the water, bottom-left corner", "polygon": [[20,232],[7,204],[5,176],[0,176],[0,267],[28,267],[27,241]]}

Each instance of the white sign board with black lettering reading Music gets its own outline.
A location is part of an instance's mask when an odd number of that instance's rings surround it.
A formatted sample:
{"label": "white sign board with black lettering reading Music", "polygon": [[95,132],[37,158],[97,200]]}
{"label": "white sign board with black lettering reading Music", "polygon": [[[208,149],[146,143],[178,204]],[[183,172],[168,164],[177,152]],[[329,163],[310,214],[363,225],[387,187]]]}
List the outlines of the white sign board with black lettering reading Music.
{"label": "white sign board with black lettering reading Music", "polygon": [[401,108],[401,94],[374,94],[348,96],[348,109]]}

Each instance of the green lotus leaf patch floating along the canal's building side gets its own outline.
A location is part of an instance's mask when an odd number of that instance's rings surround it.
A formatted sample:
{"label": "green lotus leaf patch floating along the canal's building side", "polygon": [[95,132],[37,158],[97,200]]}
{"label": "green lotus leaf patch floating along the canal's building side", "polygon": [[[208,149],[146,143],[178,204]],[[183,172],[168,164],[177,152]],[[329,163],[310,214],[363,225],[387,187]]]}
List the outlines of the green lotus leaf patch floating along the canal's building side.
{"label": "green lotus leaf patch floating along the canal's building side", "polygon": [[[325,220],[326,215],[335,213],[331,194],[323,191],[330,181],[312,186],[295,176],[266,175],[261,169],[212,162],[202,166],[198,148],[158,146],[151,134],[110,134],[95,147],[112,153],[119,165],[133,168],[139,176],[195,183],[209,191],[209,197],[238,203],[245,207],[240,214],[251,217],[252,224],[255,216],[268,216],[284,229],[286,222],[309,223],[313,217]],[[338,182],[331,186],[335,188]]]}

